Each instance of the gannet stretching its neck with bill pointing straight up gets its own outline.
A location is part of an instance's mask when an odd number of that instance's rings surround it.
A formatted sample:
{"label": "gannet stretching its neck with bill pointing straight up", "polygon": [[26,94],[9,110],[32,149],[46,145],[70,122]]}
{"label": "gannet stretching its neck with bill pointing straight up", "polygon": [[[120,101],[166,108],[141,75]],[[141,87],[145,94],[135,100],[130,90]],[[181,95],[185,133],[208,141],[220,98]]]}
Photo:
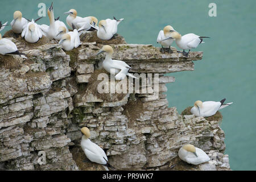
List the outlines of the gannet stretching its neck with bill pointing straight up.
{"label": "gannet stretching its neck with bill pointing straight up", "polygon": [[50,24],[49,26],[46,24],[42,24],[40,25],[40,28],[43,32],[43,35],[46,36],[49,40],[52,40],[58,34],[60,26],[65,27],[66,30],[68,30],[68,28],[65,25],[65,23],[61,22],[59,19],[55,20],[53,13],[53,2],[51,6],[48,8],[47,13],[49,16]]}

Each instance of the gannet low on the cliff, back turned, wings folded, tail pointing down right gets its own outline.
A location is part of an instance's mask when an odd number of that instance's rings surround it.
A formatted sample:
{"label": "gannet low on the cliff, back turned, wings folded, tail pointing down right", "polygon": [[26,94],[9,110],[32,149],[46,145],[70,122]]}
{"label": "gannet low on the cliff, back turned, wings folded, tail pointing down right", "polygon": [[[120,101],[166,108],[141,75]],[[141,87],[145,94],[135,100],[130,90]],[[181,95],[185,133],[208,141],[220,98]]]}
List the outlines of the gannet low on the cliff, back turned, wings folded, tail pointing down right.
{"label": "gannet low on the cliff, back turned, wings folded, tail pointing down right", "polygon": [[[87,127],[82,127],[81,129],[82,139],[81,139],[81,147],[91,162],[106,165],[108,164],[108,157],[106,156],[104,150],[99,147],[97,144],[90,141],[90,131]],[[104,168],[109,171],[108,167],[104,166]]]}

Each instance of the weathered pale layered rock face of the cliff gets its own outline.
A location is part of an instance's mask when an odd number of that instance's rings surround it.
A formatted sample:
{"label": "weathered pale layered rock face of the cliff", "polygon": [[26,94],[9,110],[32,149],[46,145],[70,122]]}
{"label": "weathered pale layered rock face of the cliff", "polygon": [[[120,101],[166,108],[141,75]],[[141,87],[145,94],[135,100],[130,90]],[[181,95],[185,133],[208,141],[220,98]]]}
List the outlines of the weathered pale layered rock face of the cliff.
{"label": "weathered pale layered rock face of the cliff", "polygon": [[[18,68],[0,64],[0,166],[102,170],[98,164],[81,163],[85,155],[80,149],[80,128],[86,126],[90,139],[106,151],[113,170],[230,169],[220,119],[180,115],[175,107],[168,107],[164,94],[165,84],[175,81],[164,73],[193,71],[193,61],[202,59],[203,52],[191,52],[187,58],[172,47],[174,53],[162,54],[151,45],[126,44],[121,36],[97,42],[94,34],[84,36],[86,41],[69,52],[54,41],[27,47],[21,39],[11,38],[28,59],[6,56],[21,63]],[[95,55],[109,43],[114,43],[113,58],[125,60],[131,73],[150,73],[147,84],[152,88],[159,76],[159,89],[130,94],[94,92],[98,74],[104,73],[104,56]],[[211,160],[198,166],[181,161],[177,151],[188,143],[203,149]],[[42,152],[46,156],[43,164],[38,162]]]}

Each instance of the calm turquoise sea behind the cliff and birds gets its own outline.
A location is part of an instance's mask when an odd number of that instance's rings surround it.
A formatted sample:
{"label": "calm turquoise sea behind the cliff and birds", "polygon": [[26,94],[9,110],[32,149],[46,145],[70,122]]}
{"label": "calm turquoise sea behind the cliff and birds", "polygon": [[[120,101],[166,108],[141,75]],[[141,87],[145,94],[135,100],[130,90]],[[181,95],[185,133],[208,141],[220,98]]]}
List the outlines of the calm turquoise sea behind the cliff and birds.
{"label": "calm turquoise sea behind the cliff and birds", "polygon": [[[13,19],[15,10],[26,18],[38,18],[38,4],[52,1],[1,0],[0,20]],[[209,3],[216,3],[217,16],[210,17]],[[196,100],[234,102],[221,110],[222,129],[226,134],[226,154],[233,170],[256,170],[256,1],[197,0],[55,0],[55,16],[65,22],[69,9],[79,16],[96,16],[99,20],[125,18],[118,26],[127,43],[156,44],[160,29],[171,24],[181,35],[195,33],[210,36],[197,47],[203,60],[195,61],[195,71],[172,73],[176,82],[168,84],[169,106],[179,113]],[[48,24],[48,18],[39,23]],[[9,30],[5,28],[2,34]],[[176,47],[174,43],[172,46]],[[253,51],[254,50],[254,51]]]}

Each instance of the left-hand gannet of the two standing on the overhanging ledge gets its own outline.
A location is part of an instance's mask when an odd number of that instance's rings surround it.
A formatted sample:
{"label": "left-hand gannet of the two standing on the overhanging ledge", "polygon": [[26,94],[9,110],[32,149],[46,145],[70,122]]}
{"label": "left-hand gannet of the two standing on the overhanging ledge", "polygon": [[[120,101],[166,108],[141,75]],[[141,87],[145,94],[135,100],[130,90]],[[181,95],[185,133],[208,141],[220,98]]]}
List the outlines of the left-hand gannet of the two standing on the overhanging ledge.
{"label": "left-hand gannet of the two standing on the overhanging ledge", "polygon": [[[162,53],[164,53],[164,48],[168,48],[168,52],[172,53],[171,44],[174,42],[174,38],[172,38],[172,32],[176,32],[172,26],[167,25],[163,30],[160,30],[157,38],[157,43],[162,45]],[[169,39],[167,39],[169,38]]]}

